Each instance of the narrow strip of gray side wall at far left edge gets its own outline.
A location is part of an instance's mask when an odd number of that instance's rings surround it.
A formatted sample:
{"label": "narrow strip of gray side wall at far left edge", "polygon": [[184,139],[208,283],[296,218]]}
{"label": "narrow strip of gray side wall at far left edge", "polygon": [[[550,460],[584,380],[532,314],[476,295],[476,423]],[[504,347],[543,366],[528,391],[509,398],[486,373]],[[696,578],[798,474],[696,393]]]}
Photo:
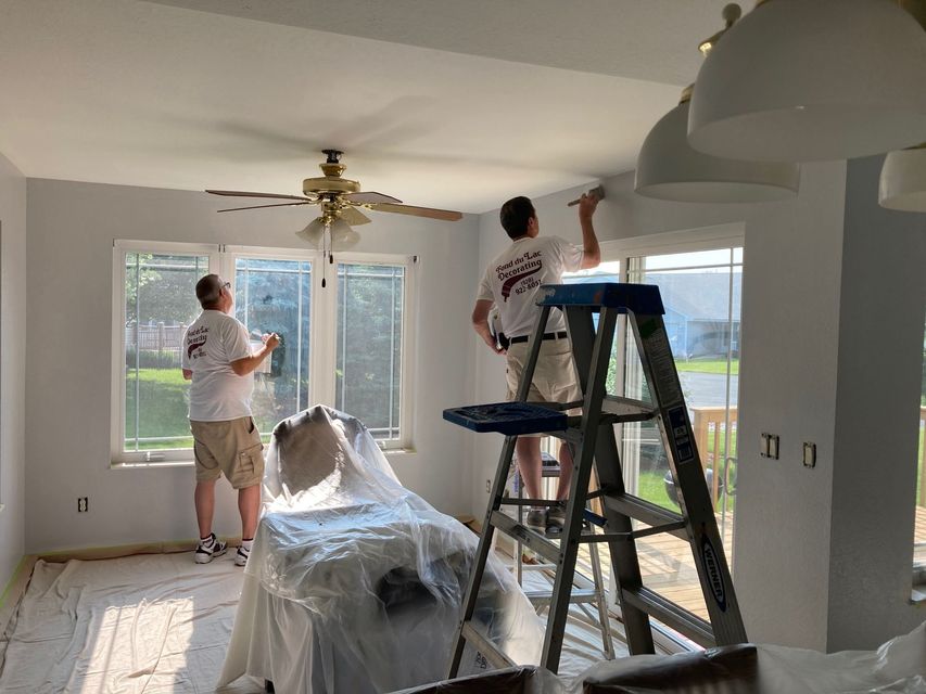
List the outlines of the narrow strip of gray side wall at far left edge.
{"label": "narrow strip of gray side wall at far left edge", "polygon": [[0,591],[26,535],[26,179],[0,155]]}

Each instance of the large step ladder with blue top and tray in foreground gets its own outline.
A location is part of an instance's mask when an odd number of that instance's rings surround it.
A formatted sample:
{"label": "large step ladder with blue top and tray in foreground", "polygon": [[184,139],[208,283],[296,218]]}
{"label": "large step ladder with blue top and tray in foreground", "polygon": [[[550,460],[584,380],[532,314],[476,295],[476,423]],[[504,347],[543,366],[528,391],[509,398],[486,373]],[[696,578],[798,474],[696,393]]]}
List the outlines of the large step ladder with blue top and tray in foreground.
{"label": "large step ladder with blue top and tray in foreground", "polygon": [[[495,667],[513,664],[480,633],[472,624],[479,587],[492,548],[495,530],[523,543],[545,561],[556,565],[549,616],[540,665],[556,672],[562,650],[570,593],[580,544],[607,543],[617,579],[618,601],[632,655],[655,653],[650,617],[692,641],[713,647],[747,640],[739,605],[733,589],[723,543],[685,398],[675,371],[675,361],[662,321],[664,309],[659,288],[643,284],[558,284],[541,287],[541,307],[528,345],[528,360],[518,385],[516,401],[456,408],[444,419],[474,432],[505,435],[489,509],[483,522],[475,562],[469,579],[457,632],[449,678],[457,676],[467,643]],[[581,402],[528,403],[527,396],[537,363],[543,333],[550,311],[566,317],[572,356],[583,393]],[[643,402],[606,393],[606,378],[614,343],[618,316],[625,313],[633,332],[643,372],[652,402]],[[597,318],[597,320],[596,320]],[[568,411],[582,408],[581,416]],[[673,513],[624,489],[614,424],[655,420],[659,426],[669,466],[678,490],[681,513]],[[551,501],[512,499],[505,496],[515,441],[522,434],[545,433],[573,447],[574,470],[566,507],[566,525],[558,542],[553,542],[502,512],[503,505],[549,506]],[[599,489],[588,493],[592,466]],[[583,517],[588,499],[600,499],[604,532],[584,532]],[[634,529],[633,520],[647,527]],[[636,540],[669,532],[689,543],[710,620],[685,609],[644,586]]]}

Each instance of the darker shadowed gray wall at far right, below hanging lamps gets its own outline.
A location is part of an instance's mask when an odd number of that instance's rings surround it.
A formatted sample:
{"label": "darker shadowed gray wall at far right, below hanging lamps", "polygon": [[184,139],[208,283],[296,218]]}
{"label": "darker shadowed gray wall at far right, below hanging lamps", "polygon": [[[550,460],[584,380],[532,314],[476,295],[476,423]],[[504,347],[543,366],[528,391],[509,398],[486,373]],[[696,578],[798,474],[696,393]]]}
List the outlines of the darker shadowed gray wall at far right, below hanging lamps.
{"label": "darker shadowed gray wall at far right, below hanging lamps", "polygon": [[[913,563],[926,215],[878,206],[884,157],[849,163],[839,306],[828,645],[855,647],[926,619]],[[860,618],[859,605],[877,611]]]}

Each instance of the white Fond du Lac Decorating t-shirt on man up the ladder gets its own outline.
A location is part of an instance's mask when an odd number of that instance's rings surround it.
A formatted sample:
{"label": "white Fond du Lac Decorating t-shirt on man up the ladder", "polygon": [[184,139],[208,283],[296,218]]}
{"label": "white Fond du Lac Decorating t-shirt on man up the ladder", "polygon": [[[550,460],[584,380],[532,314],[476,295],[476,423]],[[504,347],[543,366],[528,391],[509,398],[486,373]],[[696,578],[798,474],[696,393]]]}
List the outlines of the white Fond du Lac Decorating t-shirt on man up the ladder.
{"label": "white Fond du Lac Decorating t-shirt on man up the ladder", "polygon": [[[527,236],[498,255],[482,275],[478,299],[498,307],[508,337],[530,335],[537,320],[536,295],[542,284],[559,284],[563,272],[582,267],[582,248],[559,236]],[[558,309],[550,311],[545,332],[566,330]]]}

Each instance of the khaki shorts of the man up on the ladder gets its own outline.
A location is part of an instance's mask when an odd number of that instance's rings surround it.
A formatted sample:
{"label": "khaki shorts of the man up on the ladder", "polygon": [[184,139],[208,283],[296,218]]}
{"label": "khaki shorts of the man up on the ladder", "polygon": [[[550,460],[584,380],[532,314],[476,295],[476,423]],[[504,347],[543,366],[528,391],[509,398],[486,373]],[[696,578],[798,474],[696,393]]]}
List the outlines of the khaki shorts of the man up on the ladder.
{"label": "khaki shorts of the man up on the ladder", "polygon": [[[528,360],[528,343],[508,346],[507,400],[513,400],[518,394],[518,382]],[[569,338],[545,339],[541,343],[541,354],[534,369],[534,378],[528,391],[528,402],[575,402],[582,400],[579,376],[572,363],[572,345]],[[540,434],[533,436],[541,436]]]}

